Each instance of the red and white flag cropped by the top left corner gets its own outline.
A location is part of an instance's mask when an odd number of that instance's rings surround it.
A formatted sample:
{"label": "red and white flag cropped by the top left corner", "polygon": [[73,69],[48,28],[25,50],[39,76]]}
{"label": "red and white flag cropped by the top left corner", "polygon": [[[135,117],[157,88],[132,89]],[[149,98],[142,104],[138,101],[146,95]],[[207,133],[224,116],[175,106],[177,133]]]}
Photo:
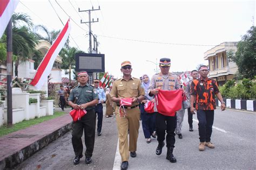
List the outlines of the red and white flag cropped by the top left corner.
{"label": "red and white flag cropped by the top left corner", "polygon": [[12,13],[14,13],[19,1],[18,0],[0,0],[0,38],[8,25]]}

